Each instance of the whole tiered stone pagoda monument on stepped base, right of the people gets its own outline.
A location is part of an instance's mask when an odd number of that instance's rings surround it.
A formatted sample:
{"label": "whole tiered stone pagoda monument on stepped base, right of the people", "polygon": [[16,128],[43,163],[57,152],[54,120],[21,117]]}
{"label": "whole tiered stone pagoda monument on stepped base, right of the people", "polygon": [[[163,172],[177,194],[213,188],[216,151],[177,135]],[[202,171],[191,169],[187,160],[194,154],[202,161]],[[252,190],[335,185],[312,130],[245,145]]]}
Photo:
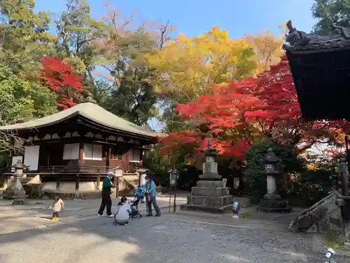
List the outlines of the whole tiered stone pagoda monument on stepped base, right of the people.
{"label": "whole tiered stone pagoda monument on stepped base, right of the people", "polygon": [[205,151],[205,162],[203,163],[203,174],[197,182],[197,187],[192,187],[190,196],[187,197],[187,204],[181,205],[181,210],[202,210],[211,213],[225,213],[225,210],[232,208],[232,196],[228,187],[218,175],[218,163],[214,157],[218,154],[216,149],[209,147]]}

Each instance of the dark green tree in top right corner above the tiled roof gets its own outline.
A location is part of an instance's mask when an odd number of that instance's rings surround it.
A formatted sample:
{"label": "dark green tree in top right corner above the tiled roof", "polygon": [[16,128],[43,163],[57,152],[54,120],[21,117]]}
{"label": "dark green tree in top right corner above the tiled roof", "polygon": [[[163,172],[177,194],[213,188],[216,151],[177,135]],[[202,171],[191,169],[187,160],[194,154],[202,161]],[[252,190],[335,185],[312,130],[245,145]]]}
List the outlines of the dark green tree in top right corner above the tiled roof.
{"label": "dark green tree in top right corner above the tiled roof", "polygon": [[315,0],[311,8],[318,21],[314,32],[329,34],[336,27],[350,27],[349,0]]}

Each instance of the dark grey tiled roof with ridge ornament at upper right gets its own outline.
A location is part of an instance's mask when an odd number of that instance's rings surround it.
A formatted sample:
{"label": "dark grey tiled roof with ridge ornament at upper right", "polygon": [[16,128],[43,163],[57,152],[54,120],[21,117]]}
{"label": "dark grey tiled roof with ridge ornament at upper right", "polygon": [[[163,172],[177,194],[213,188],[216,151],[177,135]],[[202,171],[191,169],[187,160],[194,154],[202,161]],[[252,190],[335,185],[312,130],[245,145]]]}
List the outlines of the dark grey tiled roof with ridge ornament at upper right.
{"label": "dark grey tiled roof with ridge ornament at upper right", "polygon": [[332,34],[323,36],[299,31],[293,27],[291,21],[288,21],[287,27],[289,32],[286,43],[283,45],[283,49],[286,51],[321,51],[350,48],[350,28],[339,27]]}

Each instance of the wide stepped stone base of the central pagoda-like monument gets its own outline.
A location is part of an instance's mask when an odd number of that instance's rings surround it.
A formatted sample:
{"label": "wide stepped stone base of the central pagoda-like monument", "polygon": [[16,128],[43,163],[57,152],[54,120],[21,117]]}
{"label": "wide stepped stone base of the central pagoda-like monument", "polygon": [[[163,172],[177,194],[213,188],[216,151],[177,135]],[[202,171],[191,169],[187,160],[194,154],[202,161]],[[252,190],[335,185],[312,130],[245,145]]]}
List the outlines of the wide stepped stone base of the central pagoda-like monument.
{"label": "wide stepped stone base of the central pagoda-like monument", "polygon": [[197,187],[192,187],[187,204],[181,210],[197,210],[209,213],[232,211],[232,196],[222,181],[200,180]]}

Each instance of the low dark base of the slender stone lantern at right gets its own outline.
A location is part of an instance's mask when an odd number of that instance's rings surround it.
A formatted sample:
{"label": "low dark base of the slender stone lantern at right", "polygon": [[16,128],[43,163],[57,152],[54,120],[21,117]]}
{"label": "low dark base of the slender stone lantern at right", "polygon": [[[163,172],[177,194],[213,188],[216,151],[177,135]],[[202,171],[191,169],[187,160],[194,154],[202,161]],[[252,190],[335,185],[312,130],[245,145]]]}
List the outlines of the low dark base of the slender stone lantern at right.
{"label": "low dark base of the slender stone lantern at right", "polygon": [[260,201],[258,210],[269,213],[290,213],[292,208],[288,205],[287,200],[282,200],[278,194],[265,194]]}

